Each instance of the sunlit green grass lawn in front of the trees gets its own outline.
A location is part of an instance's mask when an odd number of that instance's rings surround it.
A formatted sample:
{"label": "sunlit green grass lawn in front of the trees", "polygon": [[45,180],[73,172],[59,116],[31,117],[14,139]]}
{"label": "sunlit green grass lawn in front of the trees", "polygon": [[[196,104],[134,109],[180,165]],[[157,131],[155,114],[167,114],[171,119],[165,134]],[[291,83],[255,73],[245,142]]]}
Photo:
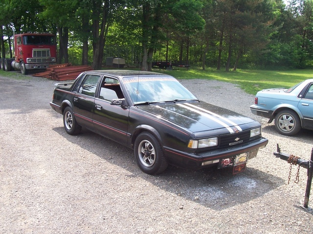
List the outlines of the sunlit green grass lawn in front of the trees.
{"label": "sunlit green grass lawn in front of the trees", "polygon": [[268,88],[290,88],[305,79],[313,78],[313,70],[264,71],[242,70],[236,72],[217,71],[216,69],[173,69],[172,71],[154,69],[178,79],[214,79],[239,84],[248,94]]}

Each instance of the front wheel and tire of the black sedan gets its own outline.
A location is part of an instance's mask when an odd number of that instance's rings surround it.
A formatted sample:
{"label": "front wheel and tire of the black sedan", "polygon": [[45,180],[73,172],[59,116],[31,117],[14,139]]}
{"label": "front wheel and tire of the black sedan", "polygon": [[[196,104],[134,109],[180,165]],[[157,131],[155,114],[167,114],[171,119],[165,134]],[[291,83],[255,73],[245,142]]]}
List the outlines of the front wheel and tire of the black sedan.
{"label": "front wheel and tire of the black sedan", "polygon": [[168,166],[161,144],[149,132],[143,132],[136,138],[134,156],[140,170],[150,175],[162,173]]}

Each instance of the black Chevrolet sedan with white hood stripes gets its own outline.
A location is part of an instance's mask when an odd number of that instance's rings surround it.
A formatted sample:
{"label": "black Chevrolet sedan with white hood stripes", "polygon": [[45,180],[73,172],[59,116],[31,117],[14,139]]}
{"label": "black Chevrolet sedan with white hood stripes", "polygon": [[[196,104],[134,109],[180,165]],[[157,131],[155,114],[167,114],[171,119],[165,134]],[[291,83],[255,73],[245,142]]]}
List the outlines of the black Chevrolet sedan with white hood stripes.
{"label": "black Chevrolet sedan with white hood stripes", "polygon": [[68,134],[85,127],[128,146],[151,175],[168,164],[232,167],[236,174],[268,143],[257,121],[203,102],[159,73],[84,72],[72,84],[58,84],[50,106],[63,115]]}

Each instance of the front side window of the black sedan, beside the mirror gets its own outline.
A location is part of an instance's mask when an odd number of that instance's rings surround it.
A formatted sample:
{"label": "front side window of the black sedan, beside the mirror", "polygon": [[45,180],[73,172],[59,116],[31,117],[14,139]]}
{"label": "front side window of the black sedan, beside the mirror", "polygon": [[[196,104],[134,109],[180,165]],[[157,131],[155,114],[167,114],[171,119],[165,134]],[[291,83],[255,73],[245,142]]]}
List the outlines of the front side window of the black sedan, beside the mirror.
{"label": "front side window of the black sedan, beside the mirror", "polygon": [[119,81],[114,78],[105,78],[101,84],[99,98],[107,101],[124,98]]}

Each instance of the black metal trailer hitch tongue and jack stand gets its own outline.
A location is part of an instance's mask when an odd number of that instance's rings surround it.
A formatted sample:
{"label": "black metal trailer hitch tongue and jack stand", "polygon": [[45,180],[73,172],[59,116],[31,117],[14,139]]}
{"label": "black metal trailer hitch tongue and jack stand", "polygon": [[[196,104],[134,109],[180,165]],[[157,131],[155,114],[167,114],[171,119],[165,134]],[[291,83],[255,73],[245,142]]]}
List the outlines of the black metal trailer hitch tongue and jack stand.
{"label": "black metal trailer hitch tongue and jack stand", "polygon": [[[278,144],[277,144],[277,152],[274,152],[274,155],[276,157],[279,157],[282,160],[285,160],[285,161],[288,161],[288,159],[290,157],[290,155],[287,155],[285,153],[281,153]],[[303,168],[306,168],[308,170],[308,181],[307,181],[307,188],[305,191],[303,207],[306,209],[310,209],[310,208],[308,208],[308,205],[309,205],[309,197],[310,197],[312,177],[313,177],[313,148],[311,151],[311,159],[310,160],[304,160],[304,159],[298,158],[296,164],[303,167]],[[312,210],[312,209],[310,209],[310,210]]]}

